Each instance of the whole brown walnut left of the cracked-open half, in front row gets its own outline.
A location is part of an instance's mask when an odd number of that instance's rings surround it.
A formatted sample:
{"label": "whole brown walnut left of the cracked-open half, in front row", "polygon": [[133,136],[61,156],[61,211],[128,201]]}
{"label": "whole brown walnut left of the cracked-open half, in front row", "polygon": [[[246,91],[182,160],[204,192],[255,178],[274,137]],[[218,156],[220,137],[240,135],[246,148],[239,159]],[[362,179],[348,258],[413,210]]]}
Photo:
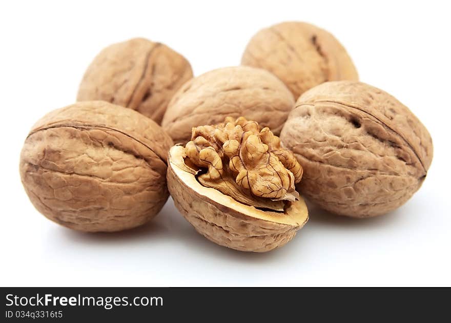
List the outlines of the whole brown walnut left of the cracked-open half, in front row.
{"label": "whole brown walnut left of the cracked-open half, in front row", "polygon": [[47,218],[80,231],[120,231],[152,219],[169,192],[171,138],[151,119],[103,101],[54,110],[30,130],[20,177]]}

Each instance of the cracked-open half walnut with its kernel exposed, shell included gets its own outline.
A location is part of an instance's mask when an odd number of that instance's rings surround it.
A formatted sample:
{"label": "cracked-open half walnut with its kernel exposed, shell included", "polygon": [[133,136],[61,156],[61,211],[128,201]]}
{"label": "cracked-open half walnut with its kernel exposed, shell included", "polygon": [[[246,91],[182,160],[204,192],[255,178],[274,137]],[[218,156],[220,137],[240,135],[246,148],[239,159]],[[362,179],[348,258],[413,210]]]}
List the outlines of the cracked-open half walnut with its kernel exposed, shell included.
{"label": "cracked-open half walnut with its kernel exposed, shell included", "polygon": [[170,150],[168,187],[195,229],[220,245],[264,252],[290,241],[308,220],[295,191],[302,167],[269,128],[240,117],[193,128]]}

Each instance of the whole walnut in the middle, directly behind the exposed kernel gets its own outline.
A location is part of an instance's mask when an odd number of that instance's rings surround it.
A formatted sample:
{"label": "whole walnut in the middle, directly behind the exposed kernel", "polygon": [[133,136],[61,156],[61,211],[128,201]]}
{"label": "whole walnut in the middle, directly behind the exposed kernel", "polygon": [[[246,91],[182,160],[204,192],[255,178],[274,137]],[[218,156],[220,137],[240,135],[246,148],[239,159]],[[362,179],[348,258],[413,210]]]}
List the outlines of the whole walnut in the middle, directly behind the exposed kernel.
{"label": "whole walnut in the middle, directly behind the exposed kernel", "polygon": [[270,72],[226,67],[185,83],[169,103],[161,125],[176,143],[188,142],[193,127],[220,123],[228,116],[254,120],[278,135],[293,105],[289,89]]}

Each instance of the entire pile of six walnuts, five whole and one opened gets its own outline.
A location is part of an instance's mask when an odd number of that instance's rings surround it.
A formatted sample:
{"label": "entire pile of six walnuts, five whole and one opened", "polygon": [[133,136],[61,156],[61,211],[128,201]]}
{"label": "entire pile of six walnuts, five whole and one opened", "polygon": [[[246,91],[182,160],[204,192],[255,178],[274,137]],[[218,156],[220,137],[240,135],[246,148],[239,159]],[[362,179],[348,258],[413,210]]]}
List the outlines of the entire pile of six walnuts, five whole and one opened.
{"label": "entire pile of six walnuts, five whole and one opened", "polygon": [[433,157],[412,111],[359,82],[331,33],[300,22],[260,30],[240,66],[195,78],[166,45],[113,44],[77,101],[31,128],[20,177],[40,213],[79,231],[142,225],[171,195],[211,241],[265,252],[308,221],[302,196],[332,214],[386,214]]}

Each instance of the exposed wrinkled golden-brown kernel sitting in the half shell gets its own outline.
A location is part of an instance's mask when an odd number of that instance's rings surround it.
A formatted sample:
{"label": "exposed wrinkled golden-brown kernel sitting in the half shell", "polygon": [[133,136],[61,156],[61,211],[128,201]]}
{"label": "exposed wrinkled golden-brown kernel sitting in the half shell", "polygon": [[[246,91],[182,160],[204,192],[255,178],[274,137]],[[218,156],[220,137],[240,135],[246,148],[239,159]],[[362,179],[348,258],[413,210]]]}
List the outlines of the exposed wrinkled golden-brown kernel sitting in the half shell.
{"label": "exposed wrinkled golden-brown kernel sitting in the half shell", "polygon": [[206,169],[198,176],[202,185],[242,203],[283,211],[283,201],[299,198],[295,183],[301,180],[301,165],[269,128],[254,121],[228,117],[193,128],[186,155]]}

